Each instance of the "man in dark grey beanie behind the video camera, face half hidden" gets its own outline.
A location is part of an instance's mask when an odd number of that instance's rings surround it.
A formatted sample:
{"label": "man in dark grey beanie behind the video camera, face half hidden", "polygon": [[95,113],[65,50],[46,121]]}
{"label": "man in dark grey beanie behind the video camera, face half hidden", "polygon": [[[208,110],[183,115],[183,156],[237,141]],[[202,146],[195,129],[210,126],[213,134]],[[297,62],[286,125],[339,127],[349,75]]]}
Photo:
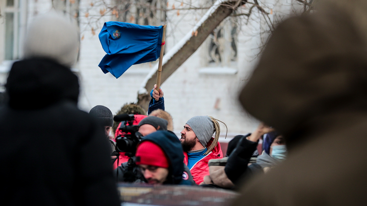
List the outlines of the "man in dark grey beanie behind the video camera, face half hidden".
{"label": "man in dark grey beanie behind the video camera, face half hidden", "polygon": [[[145,136],[158,130],[167,131],[167,124],[168,122],[166,120],[156,116],[145,117],[142,121],[140,121],[138,125],[139,130],[137,132],[137,136],[139,136],[139,138],[144,138]],[[117,140],[117,145],[119,145],[119,140]],[[136,148],[134,148],[134,150],[136,150]],[[135,161],[135,157],[132,157],[132,160]],[[128,165],[129,162],[124,162],[117,169],[114,170],[114,175],[117,176],[117,181],[147,182],[144,178],[144,175],[138,170],[138,167],[135,165],[135,163],[132,163],[132,161],[130,161],[130,167],[132,168],[129,168]],[[186,173],[188,174],[188,180],[192,180],[192,175],[189,168],[186,165],[184,165],[184,167]]]}

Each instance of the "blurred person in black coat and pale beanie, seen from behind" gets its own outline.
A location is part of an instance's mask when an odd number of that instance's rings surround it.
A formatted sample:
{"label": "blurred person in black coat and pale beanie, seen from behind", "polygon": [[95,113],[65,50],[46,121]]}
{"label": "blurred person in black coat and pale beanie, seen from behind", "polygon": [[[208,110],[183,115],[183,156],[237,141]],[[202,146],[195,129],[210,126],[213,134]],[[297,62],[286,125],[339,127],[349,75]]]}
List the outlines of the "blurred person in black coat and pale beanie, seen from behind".
{"label": "blurred person in black coat and pale beanie, seen from behind", "polygon": [[[77,27],[56,13],[38,16],[24,59],[9,72],[0,108],[0,186],[4,205],[119,205],[110,145],[77,108]],[[22,121],[22,129],[19,129]]]}

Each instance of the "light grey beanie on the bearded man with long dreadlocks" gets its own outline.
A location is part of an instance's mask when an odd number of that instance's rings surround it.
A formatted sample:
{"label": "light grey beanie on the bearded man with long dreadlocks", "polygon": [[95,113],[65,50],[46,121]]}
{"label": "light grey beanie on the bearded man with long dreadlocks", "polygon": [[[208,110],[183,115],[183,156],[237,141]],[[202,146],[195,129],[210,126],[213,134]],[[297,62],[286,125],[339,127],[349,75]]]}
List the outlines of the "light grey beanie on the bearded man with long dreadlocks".
{"label": "light grey beanie on the bearded man with long dreadlocks", "polygon": [[214,134],[214,123],[209,116],[194,116],[186,124],[194,131],[200,143],[206,147]]}

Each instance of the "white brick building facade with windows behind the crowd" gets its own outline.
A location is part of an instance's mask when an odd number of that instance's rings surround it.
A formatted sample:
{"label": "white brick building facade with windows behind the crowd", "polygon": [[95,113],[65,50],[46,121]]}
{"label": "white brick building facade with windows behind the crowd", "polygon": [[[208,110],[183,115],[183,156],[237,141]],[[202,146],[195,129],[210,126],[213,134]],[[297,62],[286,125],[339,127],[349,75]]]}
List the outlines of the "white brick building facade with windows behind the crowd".
{"label": "white brick building facade with windows behind the crowd", "polygon": [[[137,102],[141,83],[156,62],[135,65],[118,79],[109,73],[103,74],[98,67],[105,54],[98,39],[103,23],[111,20],[150,25],[165,23],[167,52],[213,4],[212,1],[196,1],[189,5],[190,2],[193,1],[0,0],[1,90],[4,90],[12,62],[22,57],[22,38],[27,35],[27,24],[34,16],[56,9],[80,26],[80,53],[72,68],[81,82],[80,108],[89,111],[95,105],[104,105],[116,113],[123,104]],[[237,13],[246,10],[249,8],[245,5]],[[256,128],[258,122],[246,114],[237,100],[239,90],[256,64],[261,44],[261,16],[254,12],[250,17],[248,20],[225,19],[161,85],[166,111],[173,116],[176,132],[195,115],[209,115],[224,122],[229,137]],[[221,128],[221,136],[224,136],[225,126],[221,124]]]}

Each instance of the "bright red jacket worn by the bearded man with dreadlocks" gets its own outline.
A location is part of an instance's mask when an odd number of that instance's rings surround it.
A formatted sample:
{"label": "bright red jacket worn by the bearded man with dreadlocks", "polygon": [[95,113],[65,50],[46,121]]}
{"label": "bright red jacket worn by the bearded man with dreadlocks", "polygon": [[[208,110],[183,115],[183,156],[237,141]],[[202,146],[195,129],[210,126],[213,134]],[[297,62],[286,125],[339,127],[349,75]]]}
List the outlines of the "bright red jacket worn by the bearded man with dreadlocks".
{"label": "bright red jacket worn by the bearded man with dreadlocks", "polygon": [[[214,138],[212,138],[206,145],[206,147],[210,146],[213,142]],[[183,159],[183,162],[187,165],[188,164],[188,156],[187,153],[184,152],[183,155],[185,155],[185,159]],[[213,148],[212,152],[207,154],[205,157],[203,157],[201,160],[199,160],[194,166],[190,169],[190,172],[193,176],[193,179],[196,184],[200,184],[204,181],[204,176],[209,175],[209,166],[208,162],[211,159],[222,159],[223,158],[223,152],[220,147],[220,143],[218,142],[217,146]]]}

